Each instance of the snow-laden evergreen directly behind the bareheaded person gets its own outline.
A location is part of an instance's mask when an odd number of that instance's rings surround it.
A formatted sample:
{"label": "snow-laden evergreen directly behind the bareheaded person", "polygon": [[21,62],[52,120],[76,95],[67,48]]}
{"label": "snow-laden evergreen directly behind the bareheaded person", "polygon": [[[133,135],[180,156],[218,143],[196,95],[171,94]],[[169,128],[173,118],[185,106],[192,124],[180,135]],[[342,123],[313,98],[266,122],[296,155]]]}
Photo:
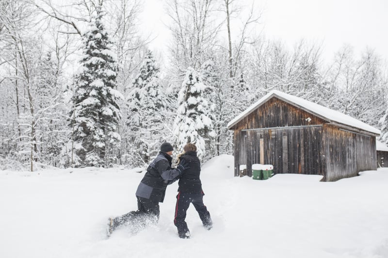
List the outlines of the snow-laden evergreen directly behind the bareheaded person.
{"label": "snow-laden evergreen directly behind the bareheaded person", "polygon": [[194,68],[187,68],[182,88],[178,93],[178,114],[174,123],[174,135],[178,139],[178,149],[194,143],[199,159],[205,156],[205,141],[215,137],[213,123],[209,118],[211,107],[203,97],[206,86]]}

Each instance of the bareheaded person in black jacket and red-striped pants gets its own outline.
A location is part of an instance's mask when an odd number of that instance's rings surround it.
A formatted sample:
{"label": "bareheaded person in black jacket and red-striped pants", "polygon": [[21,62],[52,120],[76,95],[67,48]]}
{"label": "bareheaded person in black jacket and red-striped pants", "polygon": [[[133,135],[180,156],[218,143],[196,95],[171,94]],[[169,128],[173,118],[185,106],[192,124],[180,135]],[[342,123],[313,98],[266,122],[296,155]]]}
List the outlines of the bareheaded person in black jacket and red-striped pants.
{"label": "bareheaded person in black jacket and red-striped pants", "polygon": [[202,183],[199,179],[201,172],[201,164],[197,157],[196,146],[193,143],[188,143],[183,148],[184,154],[180,156],[180,162],[187,164],[188,168],[179,177],[179,188],[177,195],[177,204],[175,208],[174,225],[178,228],[180,238],[190,238],[190,231],[185,222],[186,212],[193,203],[195,210],[198,212],[199,218],[203,226],[210,230],[212,221],[208,209],[203,204]]}

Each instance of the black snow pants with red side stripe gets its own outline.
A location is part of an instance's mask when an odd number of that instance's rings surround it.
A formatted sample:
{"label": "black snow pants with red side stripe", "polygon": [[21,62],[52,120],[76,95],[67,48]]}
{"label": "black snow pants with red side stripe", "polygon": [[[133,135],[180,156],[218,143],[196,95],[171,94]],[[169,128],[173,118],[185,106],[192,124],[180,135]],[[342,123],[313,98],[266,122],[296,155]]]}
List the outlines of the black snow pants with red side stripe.
{"label": "black snow pants with red side stripe", "polygon": [[186,232],[190,232],[185,222],[186,212],[193,203],[195,210],[198,212],[199,218],[204,227],[211,226],[211,218],[208,209],[203,204],[203,192],[197,194],[178,192],[177,204],[175,207],[174,225],[178,228],[178,235],[183,236]]}

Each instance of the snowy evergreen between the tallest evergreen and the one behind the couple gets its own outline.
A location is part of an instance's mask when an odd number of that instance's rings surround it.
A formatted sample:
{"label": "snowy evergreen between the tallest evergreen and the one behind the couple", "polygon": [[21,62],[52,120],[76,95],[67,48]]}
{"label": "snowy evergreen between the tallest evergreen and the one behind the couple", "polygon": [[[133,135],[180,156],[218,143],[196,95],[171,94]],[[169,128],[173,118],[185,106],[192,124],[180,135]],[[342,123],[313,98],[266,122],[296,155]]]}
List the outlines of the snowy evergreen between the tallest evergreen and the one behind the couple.
{"label": "snowy evergreen between the tallest evergreen and the one behind the couple", "polygon": [[166,133],[163,122],[166,98],[162,91],[160,69],[149,50],[139,74],[133,79],[127,104],[129,154],[134,155],[131,158],[132,165],[144,166],[157,155]]}

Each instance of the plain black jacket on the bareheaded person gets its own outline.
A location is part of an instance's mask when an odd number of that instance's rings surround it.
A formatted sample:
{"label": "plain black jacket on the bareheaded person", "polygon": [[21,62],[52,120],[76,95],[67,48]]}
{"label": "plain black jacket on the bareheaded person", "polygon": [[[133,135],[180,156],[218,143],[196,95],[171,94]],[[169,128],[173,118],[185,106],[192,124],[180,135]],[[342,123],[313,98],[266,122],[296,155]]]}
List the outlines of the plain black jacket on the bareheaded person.
{"label": "plain black jacket on the bareheaded person", "polygon": [[197,152],[186,152],[180,156],[189,164],[188,169],[185,169],[179,179],[178,192],[198,194],[202,193],[202,183],[199,179],[201,173],[201,163],[197,157]]}

